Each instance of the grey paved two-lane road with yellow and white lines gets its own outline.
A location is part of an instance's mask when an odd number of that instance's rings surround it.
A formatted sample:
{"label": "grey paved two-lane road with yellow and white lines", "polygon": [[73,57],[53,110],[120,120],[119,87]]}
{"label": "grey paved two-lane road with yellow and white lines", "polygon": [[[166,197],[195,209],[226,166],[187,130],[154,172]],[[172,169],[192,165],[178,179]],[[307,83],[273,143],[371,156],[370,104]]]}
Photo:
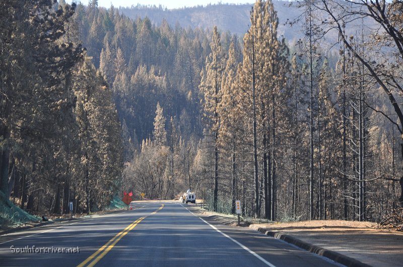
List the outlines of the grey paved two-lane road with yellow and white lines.
{"label": "grey paved two-lane road with yellow and white lines", "polygon": [[[197,217],[187,205],[139,205],[135,210],[0,236],[0,265],[340,266],[256,231]],[[31,252],[32,246],[48,251],[17,253]],[[64,253],[50,253],[58,248]],[[75,253],[67,253],[68,248]]]}

